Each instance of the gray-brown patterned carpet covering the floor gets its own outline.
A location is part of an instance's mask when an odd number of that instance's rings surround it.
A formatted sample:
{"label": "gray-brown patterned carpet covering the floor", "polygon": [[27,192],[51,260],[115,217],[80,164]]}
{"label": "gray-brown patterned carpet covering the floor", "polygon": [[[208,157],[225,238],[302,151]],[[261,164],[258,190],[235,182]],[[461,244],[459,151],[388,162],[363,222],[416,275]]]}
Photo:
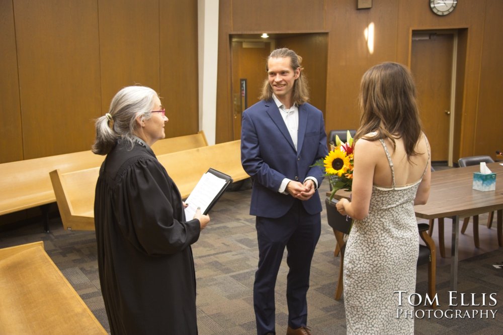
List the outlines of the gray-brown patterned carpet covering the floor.
{"label": "gray-brown patterned carpet covering the floor", "polygon": [[[323,183],[321,194],[326,191]],[[256,333],[253,310],[253,280],[258,262],[255,218],[248,215],[250,190],[226,192],[210,212],[211,222],[193,246],[197,276],[198,328],[200,335]],[[68,232],[59,218],[50,222],[50,234],[41,233],[41,224],[25,225],[0,233],[0,248],[44,241],[45,249],[73,285],[98,320],[108,329],[100,292],[94,232]],[[495,235],[495,229],[492,229]],[[308,325],[314,334],[345,334],[344,296],[333,299],[340,258],[333,257],[335,239],[322,212],[322,231],[311,267],[308,292]],[[285,255],[286,256],[286,255]],[[501,249],[490,251],[459,263],[458,306],[449,306],[450,266],[437,266],[437,291],[440,306],[428,317],[428,306],[417,306],[416,334],[503,334],[503,269],[493,264],[503,262]],[[502,263],[503,264],[503,263]],[[276,330],[286,333],[286,276],[284,260],[276,285]],[[427,291],[427,266],[418,268],[417,292]],[[460,306],[464,302],[486,306]],[[494,293],[496,304],[489,298]],[[492,304],[489,306],[489,304]],[[450,309],[460,316],[451,315]],[[418,310],[424,310],[418,311]],[[474,311],[479,314],[473,316]],[[482,317],[480,310],[483,311]],[[492,312],[495,316],[492,317]],[[426,316],[421,318],[422,313]],[[430,313],[432,313],[430,311]],[[487,313],[487,317],[484,317]],[[470,318],[466,315],[470,314]],[[464,318],[460,318],[463,316]]]}

